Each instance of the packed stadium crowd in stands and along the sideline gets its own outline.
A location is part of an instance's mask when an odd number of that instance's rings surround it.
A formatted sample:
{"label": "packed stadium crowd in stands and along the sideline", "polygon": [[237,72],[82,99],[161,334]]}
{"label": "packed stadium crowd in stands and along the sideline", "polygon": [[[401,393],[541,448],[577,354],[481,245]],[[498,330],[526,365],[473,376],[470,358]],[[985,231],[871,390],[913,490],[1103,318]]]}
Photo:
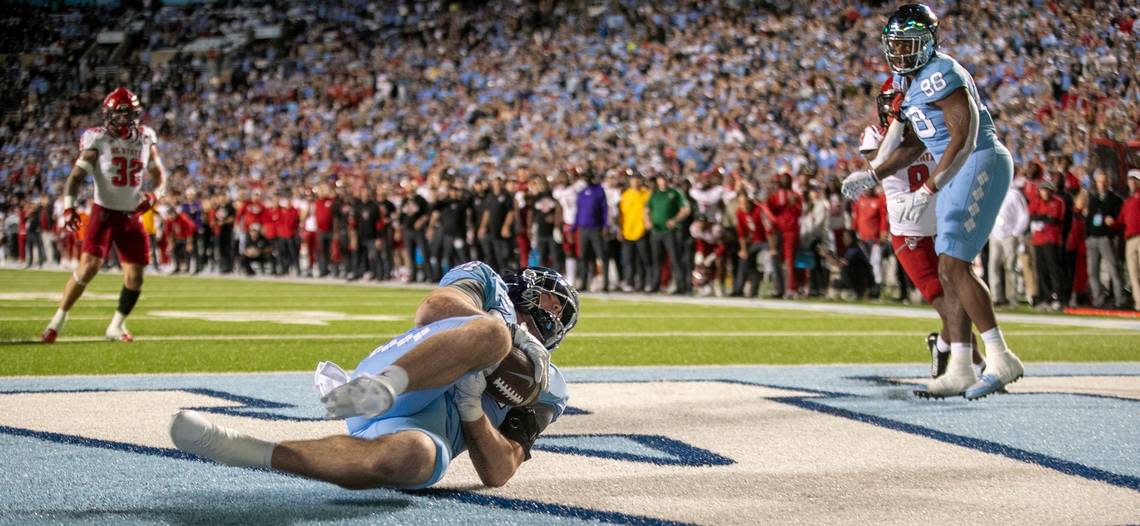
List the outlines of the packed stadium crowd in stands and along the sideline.
{"label": "packed stadium crowd in stands and along the sideline", "polygon": [[[979,264],[995,299],[1140,305],[1140,178],[1098,172],[1090,155],[1094,138],[1140,136],[1138,8],[934,7],[942,49],[971,71],[1015,156],[1017,192]],[[431,281],[478,258],[553,266],[584,290],[905,299],[882,197],[839,195],[887,78],[889,8],[35,11],[0,37],[8,57],[43,57],[9,58],[2,81],[19,108],[0,127],[5,253],[74,260],[59,187],[101,96],[124,83],[172,167],[176,192],[144,217],[156,268]],[[144,37],[116,57],[120,78],[73,74],[106,60],[81,56],[84,42],[128,22]],[[267,25],[279,37],[185,48]]]}

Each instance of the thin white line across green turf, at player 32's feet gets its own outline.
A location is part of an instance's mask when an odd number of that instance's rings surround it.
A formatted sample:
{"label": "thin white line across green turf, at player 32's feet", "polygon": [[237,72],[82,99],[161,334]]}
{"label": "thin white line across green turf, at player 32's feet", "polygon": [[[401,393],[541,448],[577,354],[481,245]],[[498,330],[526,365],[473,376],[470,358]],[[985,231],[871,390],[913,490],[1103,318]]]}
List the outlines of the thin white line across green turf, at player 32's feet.
{"label": "thin white line across green turf, at player 32's feet", "polygon": [[[136,341],[274,341],[274,340],[384,340],[400,335],[391,334],[178,334],[166,337],[140,337]],[[1130,337],[1132,332],[1105,331],[1010,331],[1009,337]],[[705,331],[705,332],[576,332],[576,338],[919,338],[914,331]],[[7,339],[7,343],[35,342],[39,340]],[[62,342],[105,341],[100,337],[60,338]]]}

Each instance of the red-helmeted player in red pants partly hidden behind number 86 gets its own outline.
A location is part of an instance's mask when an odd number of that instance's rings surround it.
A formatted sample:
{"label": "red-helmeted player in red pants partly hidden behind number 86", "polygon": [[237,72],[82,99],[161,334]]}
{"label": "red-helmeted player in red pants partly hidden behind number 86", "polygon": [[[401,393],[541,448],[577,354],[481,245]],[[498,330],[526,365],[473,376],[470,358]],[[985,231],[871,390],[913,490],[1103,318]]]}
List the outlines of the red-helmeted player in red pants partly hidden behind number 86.
{"label": "red-helmeted player in red pants partly hidden behind number 86", "polygon": [[[897,105],[902,103],[903,92],[895,90],[891,79],[887,79],[876,97],[876,110],[879,123],[863,129],[860,141],[860,154],[871,162],[879,152],[882,137],[890,123],[898,119]],[[887,222],[890,227],[890,245],[898,258],[903,272],[911,278],[914,286],[930,304],[942,318],[942,330],[927,337],[927,349],[930,351],[930,377],[938,378],[946,372],[950,362],[950,334],[946,331],[946,302],[943,299],[942,283],[938,281],[938,254],[934,250],[937,219],[935,209],[928,207],[919,216],[918,221],[907,222],[899,219],[903,203],[897,197],[918,191],[936,168],[934,155],[923,152],[914,162],[893,177],[883,177],[879,184],[887,199]],[[854,199],[856,196],[849,196]],[[970,334],[972,342],[972,331]],[[976,369],[985,367],[985,361],[978,349],[974,349],[972,362]],[[978,371],[980,374],[980,371]]]}

